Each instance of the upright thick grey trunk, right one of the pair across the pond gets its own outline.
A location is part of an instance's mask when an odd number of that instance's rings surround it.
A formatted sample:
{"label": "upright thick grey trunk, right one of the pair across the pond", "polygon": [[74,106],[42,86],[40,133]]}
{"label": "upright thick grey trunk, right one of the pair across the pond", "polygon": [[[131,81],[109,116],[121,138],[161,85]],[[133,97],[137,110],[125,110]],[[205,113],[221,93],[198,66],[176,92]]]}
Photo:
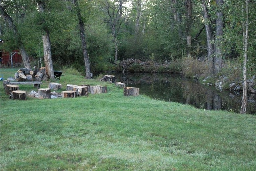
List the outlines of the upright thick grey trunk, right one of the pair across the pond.
{"label": "upright thick grey trunk, right one of the pair across the pond", "polygon": [[216,18],[216,38],[215,38],[215,60],[214,60],[214,67],[215,67],[215,74],[219,73],[222,68],[222,36],[223,36],[223,12],[222,6],[224,1],[223,0],[216,0],[217,4],[217,18]]}

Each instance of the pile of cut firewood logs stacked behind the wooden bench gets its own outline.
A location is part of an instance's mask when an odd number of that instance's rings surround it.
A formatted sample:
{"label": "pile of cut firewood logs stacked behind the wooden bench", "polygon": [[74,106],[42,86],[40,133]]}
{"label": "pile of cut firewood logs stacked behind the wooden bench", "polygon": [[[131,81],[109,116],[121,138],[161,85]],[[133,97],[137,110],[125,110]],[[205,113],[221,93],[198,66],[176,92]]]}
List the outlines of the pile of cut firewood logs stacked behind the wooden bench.
{"label": "pile of cut firewood logs stacked behind the wooden bench", "polygon": [[34,67],[34,70],[28,68],[19,68],[14,74],[16,81],[41,81],[47,79],[46,67],[41,67],[39,70]]}

